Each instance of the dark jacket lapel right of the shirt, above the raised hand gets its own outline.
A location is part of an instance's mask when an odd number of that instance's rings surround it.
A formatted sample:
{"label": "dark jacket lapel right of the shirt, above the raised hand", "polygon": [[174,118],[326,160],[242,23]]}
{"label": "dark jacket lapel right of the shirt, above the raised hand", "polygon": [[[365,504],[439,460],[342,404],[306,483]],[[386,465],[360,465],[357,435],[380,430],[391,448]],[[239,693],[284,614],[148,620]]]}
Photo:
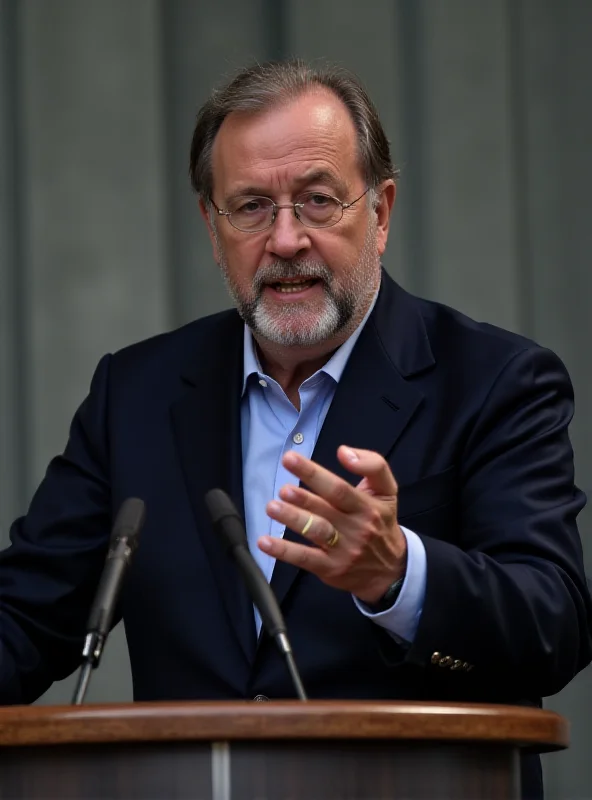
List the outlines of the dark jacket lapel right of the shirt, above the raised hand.
{"label": "dark jacket lapel right of the shirt, above the raised hand", "polygon": [[[389,456],[421,406],[423,394],[405,378],[434,364],[412,298],[383,273],[381,292],[352,351],[312,459],[352,484],[359,478],[337,460],[341,444]],[[303,543],[286,530],[284,538]],[[271,585],[281,603],[299,569],[277,562]]]}

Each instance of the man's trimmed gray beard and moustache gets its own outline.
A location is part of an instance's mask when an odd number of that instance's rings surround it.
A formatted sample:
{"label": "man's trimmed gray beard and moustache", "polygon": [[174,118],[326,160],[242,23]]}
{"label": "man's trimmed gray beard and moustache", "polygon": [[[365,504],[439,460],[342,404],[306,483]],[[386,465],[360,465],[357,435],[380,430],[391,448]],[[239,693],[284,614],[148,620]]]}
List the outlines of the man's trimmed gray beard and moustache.
{"label": "man's trimmed gray beard and moustache", "polygon": [[[284,347],[313,347],[334,338],[344,330],[353,333],[374,296],[376,281],[372,278],[380,269],[375,230],[370,222],[360,258],[345,273],[347,285],[336,286],[333,273],[323,262],[311,259],[278,260],[257,270],[252,293],[245,297],[230,278],[224,250],[214,228],[219,266],[238,313],[256,336]],[[270,311],[263,297],[266,285],[280,279],[296,277],[315,279],[322,283],[324,308],[314,314],[304,304],[294,302],[278,305]],[[298,326],[304,315],[314,315],[313,321],[308,326]]]}

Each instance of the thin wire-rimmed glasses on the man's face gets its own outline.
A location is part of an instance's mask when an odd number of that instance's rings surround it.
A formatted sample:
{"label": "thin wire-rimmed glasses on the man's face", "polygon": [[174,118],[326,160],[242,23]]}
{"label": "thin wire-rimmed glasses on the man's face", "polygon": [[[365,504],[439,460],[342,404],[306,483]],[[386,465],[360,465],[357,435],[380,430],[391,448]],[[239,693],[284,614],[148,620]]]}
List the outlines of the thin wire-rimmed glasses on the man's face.
{"label": "thin wire-rimmed glasses on the man's face", "polygon": [[351,203],[343,203],[337,197],[323,192],[305,192],[295,202],[285,205],[278,205],[269,197],[257,196],[237,198],[228,209],[218,208],[211,198],[210,201],[218,214],[226,217],[237,231],[259,233],[273,225],[280,208],[291,208],[296,219],[307,228],[330,228],[341,220],[346,208],[351,208],[369,190],[370,187]]}

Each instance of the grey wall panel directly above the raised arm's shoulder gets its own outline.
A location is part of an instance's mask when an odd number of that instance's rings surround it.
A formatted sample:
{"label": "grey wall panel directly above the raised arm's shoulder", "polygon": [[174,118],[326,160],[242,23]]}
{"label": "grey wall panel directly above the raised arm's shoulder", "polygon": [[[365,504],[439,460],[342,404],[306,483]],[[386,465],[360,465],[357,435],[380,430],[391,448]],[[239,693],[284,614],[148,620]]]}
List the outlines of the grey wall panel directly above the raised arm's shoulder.
{"label": "grey wall panel directly above the raised arm's shoulder", "polygon": [[519,329],[505,0],[420,0],[430,294]]}

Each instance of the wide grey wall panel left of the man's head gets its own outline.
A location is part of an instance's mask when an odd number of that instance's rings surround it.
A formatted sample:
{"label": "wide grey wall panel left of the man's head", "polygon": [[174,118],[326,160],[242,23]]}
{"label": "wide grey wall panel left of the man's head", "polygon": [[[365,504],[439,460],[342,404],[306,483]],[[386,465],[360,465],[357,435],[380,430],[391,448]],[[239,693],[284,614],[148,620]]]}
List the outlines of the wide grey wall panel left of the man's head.
{"label": "wide grey wall panel left of the man's head", "polygon": [[[31,484],[99,357],[167,324],[156,0],[22,0]],[[67,700],[71,684],[45,701]],[[121,629],[91,697],[131,693]]]}

